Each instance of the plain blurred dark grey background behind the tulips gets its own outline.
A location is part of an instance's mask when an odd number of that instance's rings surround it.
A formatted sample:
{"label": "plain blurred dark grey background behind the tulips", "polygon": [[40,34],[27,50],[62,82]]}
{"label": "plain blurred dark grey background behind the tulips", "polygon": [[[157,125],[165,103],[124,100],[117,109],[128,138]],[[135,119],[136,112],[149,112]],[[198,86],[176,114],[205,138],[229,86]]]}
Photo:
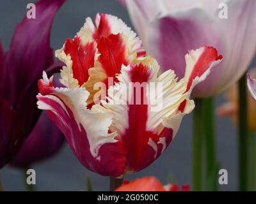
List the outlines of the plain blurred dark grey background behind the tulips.
{"label": "plain blurred dark grey background behind the tulips", "polygon": [[[0,3],[0,39],[8,50],[15,25],[26,14],[26,5],[35,1],[12,0]],[[125,8],[115,0],[68,0],[58,11],[52,27],[51,46],[61,48],[67,38],[72,38],[84,24],[86,17],[94,18],[97,12],[116,15],[127,25],[131,21]],[[252,66],[256,62],[252,62]],[[216,106],[223,98],[216,98]],[[175,178],[177,184],[191,184],[191,115],[184,117],[179,133],[153,164],[139,173],[125,176],[134,179],[146,175],[156,176],[163,184]],[[218,161],[228,170],[228,185],[223,191],[237,190],[237,131],[230,119],[216,117]],[[36,189],[39,191],[83,191],[85,177],[90,175],[93,190],[108,190],[108,177],[102,177],[84,168],[65,143],[59,154],[32,166],[36,170]],[[24,172],[6,166],[0,170],[0,178],[6,191],[24,191]]]}

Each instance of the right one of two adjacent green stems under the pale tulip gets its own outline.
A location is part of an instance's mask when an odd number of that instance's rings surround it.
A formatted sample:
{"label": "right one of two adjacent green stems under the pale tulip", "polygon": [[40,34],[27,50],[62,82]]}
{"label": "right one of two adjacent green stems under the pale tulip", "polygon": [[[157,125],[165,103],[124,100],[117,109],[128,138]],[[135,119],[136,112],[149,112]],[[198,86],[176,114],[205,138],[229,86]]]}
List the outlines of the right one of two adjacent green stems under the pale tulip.
{"label": "right one of two adjacent green stems under the pale tulip", "polygon": [[204,99],[204,136],[206,159],[206,190],[217,191],[217,169],[215,156],[214,98]]}

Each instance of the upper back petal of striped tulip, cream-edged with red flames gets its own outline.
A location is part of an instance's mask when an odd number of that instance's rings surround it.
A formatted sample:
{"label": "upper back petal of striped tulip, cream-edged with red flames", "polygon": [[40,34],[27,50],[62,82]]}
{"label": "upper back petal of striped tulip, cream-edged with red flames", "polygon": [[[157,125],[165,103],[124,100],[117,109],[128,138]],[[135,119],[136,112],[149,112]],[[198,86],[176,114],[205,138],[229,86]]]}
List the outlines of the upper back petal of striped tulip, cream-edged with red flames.
{"label": "upper back petal of striped tulip, cream-edged with red flames", "polygon": [[136,33],[117,17],[97,14],[95,24],[91,18],[77,33],[68,39],[63,48],[56,51],[56,57],[65,62],[61,70],[61,83],[66,87],[86,87],[90,92],[88,104],[93,103],[96,82],[108,87],[108,77],[116,80],[122,64],[136,62],[145,55]]}

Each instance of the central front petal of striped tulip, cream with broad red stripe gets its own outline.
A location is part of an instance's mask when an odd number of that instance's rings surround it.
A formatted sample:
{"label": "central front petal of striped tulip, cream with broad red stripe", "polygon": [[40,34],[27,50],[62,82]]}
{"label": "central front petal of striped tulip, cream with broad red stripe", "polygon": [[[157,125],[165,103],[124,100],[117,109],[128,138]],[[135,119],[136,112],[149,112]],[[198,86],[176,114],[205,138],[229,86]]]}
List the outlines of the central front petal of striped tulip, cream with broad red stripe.
{"label": "central front petal of striped tulip, cream with broad red stripe", "polygon": [[173,129],[165,128],[163,122],[175,115],[186,99],[186,83],[178,83],[173,71],[157,77],[158,71],[159,65],[151,57],[122,66],[117,76],[120,83],[108,90],[108,103],[102,101],[103,106],[92,107],[95,112],[113,113],[109,129],[116,131],[124,144],[126,172],[142,170],[168,147]]}

